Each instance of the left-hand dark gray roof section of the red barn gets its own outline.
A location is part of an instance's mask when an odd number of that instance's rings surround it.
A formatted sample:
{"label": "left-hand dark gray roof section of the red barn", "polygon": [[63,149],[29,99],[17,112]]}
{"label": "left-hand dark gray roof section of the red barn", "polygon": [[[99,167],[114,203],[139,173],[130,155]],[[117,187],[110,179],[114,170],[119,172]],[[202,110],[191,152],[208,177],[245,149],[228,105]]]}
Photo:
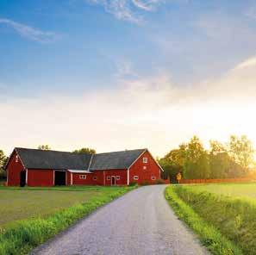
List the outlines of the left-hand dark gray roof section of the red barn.
{"label": "left-hand dark gray roof section of the red barn", "polygon": [[26,168],[87,170],[91,154],[16,148]]}

